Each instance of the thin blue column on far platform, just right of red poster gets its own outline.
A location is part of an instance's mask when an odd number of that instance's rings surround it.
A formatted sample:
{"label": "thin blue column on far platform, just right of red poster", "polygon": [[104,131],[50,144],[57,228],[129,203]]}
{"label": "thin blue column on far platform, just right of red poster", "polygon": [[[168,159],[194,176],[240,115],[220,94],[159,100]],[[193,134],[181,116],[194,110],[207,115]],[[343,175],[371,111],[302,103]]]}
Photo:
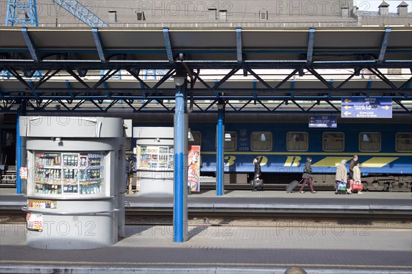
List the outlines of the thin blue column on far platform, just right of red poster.
{"label": "thin blue column on far platform, just right of red poster", "polygon": [[223,122],[225,119],[225,110],[223,108],[223,104],[218,104],[218,150],[216,151],[216,196],[222,196],[223,192],[225,192],[224,184],[223,184],[223,174],[224,174],[224,136],[225,136],[225,127],[223,126]]}

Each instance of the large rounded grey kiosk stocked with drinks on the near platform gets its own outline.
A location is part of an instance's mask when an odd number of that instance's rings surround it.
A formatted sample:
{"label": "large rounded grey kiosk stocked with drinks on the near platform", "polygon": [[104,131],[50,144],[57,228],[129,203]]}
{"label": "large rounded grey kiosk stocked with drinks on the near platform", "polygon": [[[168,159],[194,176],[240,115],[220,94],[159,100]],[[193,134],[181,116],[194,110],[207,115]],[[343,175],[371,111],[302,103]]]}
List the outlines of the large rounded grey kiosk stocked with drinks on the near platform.
{"label": "large rounded grey kiosk stocked with drinks on the near platform", "polygon": [[20,117],[27,149],[27,237],[40,249],[115,244],[124,229],[124,122]]}

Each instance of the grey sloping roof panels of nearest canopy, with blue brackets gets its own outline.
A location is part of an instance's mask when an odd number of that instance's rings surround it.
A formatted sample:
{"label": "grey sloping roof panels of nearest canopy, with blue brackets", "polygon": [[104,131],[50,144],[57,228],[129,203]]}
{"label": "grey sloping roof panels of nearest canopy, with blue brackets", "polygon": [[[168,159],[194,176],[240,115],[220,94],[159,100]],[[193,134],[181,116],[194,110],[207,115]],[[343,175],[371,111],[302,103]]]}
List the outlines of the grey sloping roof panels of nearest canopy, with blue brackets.
{"label": "grey sloping roof panels of nearest canopy, with blue brackets", "polygon": [[[388,37],[385,38],[385,35]],[[109,62],[117,60],[116,56],[119,55],[126,62],[169,62],[183,53],[188,62],[197,61],[196,67],[201,67],[201,61],[214,60],[216,63],[238,61],[240,58],[241,61],[248,62],[306,61],[308,51],[311,51],[313,62],[378,60],[380,54],[385,54],[380,61],[412,60],[412,27],[171,30],[34,27],[25,31],[15,27],[1,27],[0,36],[2,61],[5,55],[17,53],[17,59],[34,58],[39,62],[56,62],[58,59]],[[30,39],[30,45],[27,38]],[[385,48],[382,48],[383,43]],[[33,49],[35,52],[32,52]],[[243,56],[238,56],[239,53]],[[146,65],[140,66],[147,68]]]}

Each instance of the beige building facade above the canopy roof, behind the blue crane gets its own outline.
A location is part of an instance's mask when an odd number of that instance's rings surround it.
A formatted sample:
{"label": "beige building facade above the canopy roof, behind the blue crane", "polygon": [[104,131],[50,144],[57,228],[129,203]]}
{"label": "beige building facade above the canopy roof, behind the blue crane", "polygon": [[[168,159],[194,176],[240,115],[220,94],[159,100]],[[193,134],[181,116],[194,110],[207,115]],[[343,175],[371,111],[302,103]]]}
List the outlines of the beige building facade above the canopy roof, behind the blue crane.
{"label": "beige building facade above the canopy roof, behind the blue crane", "polygon": [[[81,1],[110,27],[353,27],[411,26],[405,1],[378,7],[353,0]],[[359,6],[356,6],[359,5]],[[396,5],[397,12],[389,12]],[[378,8],[378,11],[375,11]],[[393,8],[393,7],[391,7]],[[2,6],[5,16],[6,3]],[[37,1],[40,27],[84,27],[52,1]],[[5,22],[0,22],[3,25]]]}

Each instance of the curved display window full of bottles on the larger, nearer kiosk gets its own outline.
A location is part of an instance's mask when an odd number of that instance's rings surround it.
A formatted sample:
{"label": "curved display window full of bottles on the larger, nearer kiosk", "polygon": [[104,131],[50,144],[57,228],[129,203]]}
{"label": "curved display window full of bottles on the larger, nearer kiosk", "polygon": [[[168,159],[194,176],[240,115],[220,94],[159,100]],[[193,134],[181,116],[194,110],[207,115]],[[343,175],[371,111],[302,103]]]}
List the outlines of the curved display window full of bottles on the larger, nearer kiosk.
{"label": "curved display window full of bottles on the larger, nearer kiosk", "polygon": [[33,194],[104,194],[104,153],[34,152]]}

